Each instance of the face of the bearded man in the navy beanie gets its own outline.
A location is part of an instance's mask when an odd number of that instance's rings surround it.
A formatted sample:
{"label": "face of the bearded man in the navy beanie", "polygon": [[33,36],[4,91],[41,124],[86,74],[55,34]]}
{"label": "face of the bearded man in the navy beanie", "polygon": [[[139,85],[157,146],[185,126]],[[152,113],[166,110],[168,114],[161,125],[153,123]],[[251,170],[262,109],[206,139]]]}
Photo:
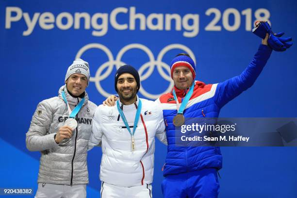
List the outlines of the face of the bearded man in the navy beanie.
{"label": "face of the bearded man in the navy beanie", "polygon": [[121,74],[117,79],[116,88],[120,99],[129,102],[136,98],[137,83],[132,74]]}

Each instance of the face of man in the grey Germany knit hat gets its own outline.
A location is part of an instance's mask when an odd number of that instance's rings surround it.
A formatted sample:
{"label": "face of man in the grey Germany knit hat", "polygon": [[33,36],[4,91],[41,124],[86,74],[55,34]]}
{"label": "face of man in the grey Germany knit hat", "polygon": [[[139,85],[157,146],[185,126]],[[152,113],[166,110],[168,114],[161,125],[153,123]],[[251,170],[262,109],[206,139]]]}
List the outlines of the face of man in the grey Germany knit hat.
{"label": "face of man in the grey Germany knit hat", "polygon": [[66,80],[67,90],[74,96],[81,95],[84,92],[87,84],[88,80],[83,74],[72,74]]}

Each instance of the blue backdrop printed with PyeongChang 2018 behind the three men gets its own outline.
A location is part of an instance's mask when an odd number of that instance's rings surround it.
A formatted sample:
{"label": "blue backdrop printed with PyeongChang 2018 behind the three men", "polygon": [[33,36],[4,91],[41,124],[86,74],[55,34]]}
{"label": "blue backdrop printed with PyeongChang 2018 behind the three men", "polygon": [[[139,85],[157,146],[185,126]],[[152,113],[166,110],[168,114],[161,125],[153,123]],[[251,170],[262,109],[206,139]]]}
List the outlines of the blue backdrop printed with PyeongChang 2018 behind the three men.
{"label": "blue backdrop printed with PyeongChang 2018 behind the three men", "polygon": [[[119,66],[138,69],[139,97],[170,92],[169,64],[178,53],[196,63],[196,80],[223,82],[239,75],[261,39],[251,33],[265,20],[275,33],[297,38],[296,0],[0,0],[0,187],[37,190],[39,152],[27,150],[37,104],[58,95],[68,66],[90,66],[86,91],[101,104],[115,94]],[[229,102],[221,117],[297,117],[296,43],[273,51],[251,88]],[[221,148],[221,198],[297,197],[297,148]],[[153,197],[161,198],[166,146],[156,140]],[[87,195],[99,197],[101,148],[88,153]],[[28,196],[29,197],[29,196]]]}

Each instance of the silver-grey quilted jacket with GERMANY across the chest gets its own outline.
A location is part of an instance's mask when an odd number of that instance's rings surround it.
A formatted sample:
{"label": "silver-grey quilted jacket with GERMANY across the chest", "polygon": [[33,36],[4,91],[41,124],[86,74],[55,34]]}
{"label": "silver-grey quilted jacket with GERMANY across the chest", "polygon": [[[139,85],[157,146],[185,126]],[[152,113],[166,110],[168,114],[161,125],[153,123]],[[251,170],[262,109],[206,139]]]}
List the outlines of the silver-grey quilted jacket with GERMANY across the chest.
{"label": "silver-grey quilted jacket with GERMANY across the chest", "polygon": [[64,85],[58,97],[41,101],[26,133],[26,146],[31,151],[41,151],[38,183],[87,184],[87,147],[97,105],[88,100],[85,92],[82,109],[76,115],[77,128],[68,141],[57,144],[54,135],[69,116],[63,90],[71,109],[81,100],[71,97]]}

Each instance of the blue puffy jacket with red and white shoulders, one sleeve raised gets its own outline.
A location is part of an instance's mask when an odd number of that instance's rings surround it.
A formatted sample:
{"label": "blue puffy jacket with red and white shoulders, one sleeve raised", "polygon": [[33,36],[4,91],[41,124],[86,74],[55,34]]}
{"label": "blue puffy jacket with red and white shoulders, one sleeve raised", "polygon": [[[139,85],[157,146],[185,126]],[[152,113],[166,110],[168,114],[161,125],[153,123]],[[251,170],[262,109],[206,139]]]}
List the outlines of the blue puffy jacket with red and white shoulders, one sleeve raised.
{"label": "blue puffy jacket with red and white shoulders, one sleeve raised", "polygon": [[[253,85],[270,57],[271,51],[268,46],[260,45],[247,68],[239,76],[225,82],[205,84],[196,81],[193,95],[183,115],[185,117],[218,117],[220,109],[227,102]],[[179,90],[176,87],[174,89],[181,103],[188,90]],[[176,101],[172,92],[162,95],[157,101],[161,103],[163,109],[168,142],[163,175],[179,174],[203,168],[222,168],[222,155],[219,147],[176,146],[175,126],[173,125],[173,117],[177,115]]]}

